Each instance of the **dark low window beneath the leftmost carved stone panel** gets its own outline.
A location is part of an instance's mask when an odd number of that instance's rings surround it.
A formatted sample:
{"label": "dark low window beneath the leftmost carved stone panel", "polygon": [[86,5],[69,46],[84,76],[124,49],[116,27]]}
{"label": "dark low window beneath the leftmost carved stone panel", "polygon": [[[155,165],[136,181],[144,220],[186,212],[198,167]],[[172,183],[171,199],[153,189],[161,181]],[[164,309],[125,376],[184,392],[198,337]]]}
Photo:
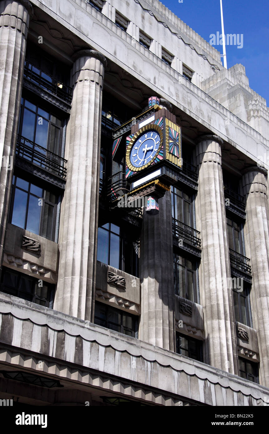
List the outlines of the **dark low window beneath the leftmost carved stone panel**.
{"label": "dark low window beneath the leftmost carved stone panel", "polygon": [[1,280],[3,293],[52,308],[54,290],[54,285],[44,282],[42,279],[34,279],[26,274],[3,268]]}

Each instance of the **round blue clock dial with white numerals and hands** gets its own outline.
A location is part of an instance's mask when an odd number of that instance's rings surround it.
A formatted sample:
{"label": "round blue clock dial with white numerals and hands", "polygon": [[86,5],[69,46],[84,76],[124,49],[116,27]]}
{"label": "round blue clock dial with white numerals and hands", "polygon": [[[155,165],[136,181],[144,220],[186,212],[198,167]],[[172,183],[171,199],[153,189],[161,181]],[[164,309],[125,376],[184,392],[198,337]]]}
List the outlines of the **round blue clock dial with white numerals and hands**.
{"label": "round blue clock dial with white numerals and hands", "polygon": [[158,152],[160,140],[156,130],[148,130],[142,134],[130,151],[130,163],[134,167],[141,168],[152,161]]}

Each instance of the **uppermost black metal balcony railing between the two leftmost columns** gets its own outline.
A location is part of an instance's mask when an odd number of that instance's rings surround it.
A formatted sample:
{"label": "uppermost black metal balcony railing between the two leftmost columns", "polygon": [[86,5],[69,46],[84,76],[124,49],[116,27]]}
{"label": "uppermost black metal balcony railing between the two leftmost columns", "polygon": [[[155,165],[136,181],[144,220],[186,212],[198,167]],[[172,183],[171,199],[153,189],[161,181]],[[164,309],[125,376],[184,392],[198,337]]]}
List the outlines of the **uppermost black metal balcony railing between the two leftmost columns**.
{"label": "uppermost black metal balcony railing between the two leftmost columns", "polygon": [[24,77],[29,80],[30,82],[35,83],[42,89],[46,89],[53,95],[57,96],[58,98],[62,99],[65,102],[68,102],[68,104],[71,104],[72,101],[72,88],[62,82],[59,82],[59,80],[56,77],[50,76],[47,72],[43,71],[42,69],[34,66],[31,64],[32,67],[34,67],[36,70],[43,73],[45,76],[48,77],[48,79],[45,79],[40,74],[34,72],[29,65],[25,64],[24,66]]}

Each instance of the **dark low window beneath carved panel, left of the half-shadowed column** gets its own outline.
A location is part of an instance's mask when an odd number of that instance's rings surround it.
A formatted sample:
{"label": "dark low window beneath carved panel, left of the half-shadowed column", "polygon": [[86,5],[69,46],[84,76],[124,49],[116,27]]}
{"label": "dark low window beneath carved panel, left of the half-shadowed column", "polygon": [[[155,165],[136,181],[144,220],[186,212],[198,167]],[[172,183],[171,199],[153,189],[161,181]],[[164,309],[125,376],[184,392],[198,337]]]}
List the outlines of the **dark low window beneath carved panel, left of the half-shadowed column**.
{"label": "dark low window beneath carved panel, left of the half-shadowed column", "polygon": [[136,337],[136,316],[106,304],[95,302],[94,323],[124,335]]}

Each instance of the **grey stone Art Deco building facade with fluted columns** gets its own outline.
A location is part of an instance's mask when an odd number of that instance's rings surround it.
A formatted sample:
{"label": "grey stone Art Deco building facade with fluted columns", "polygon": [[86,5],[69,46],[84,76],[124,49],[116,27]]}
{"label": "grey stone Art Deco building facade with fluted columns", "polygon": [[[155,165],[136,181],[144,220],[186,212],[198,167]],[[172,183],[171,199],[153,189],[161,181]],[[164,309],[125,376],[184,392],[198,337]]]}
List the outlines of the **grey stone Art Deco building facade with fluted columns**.
{"label": "grey stone Art Deco building facade with fluted columns", "polygon": [[[0,398],[266,404],[269,109],[244,67],[157,0],[2,0],[0,77]],[[159,213],[115,207],[126,137],[165,113]]]}

